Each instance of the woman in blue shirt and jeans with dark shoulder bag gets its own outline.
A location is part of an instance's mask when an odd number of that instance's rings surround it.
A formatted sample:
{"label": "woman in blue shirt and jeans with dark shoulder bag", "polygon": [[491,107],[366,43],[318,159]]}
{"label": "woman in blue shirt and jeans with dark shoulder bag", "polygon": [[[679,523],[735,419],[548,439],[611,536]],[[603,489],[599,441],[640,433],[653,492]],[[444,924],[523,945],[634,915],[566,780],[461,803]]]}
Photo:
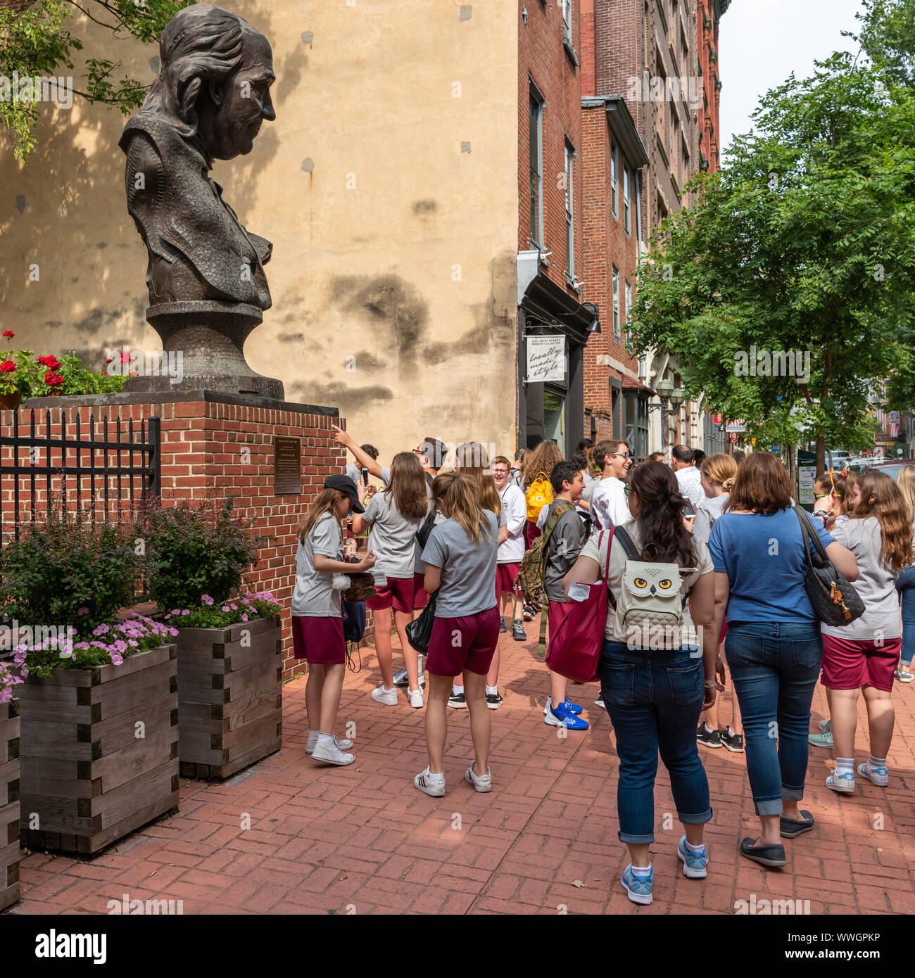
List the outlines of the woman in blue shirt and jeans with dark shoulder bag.
{"label": "woman in blue shirt and jeans with dark shoulder bag", "polygon": [[[777,456],[754,452],[738,469],[724,513],[711,527],[715,627],[727,614],[724,652],[747,737],[747,773],[761,834],[740,851],[765,867],[787,860],[780,837],[813,827],[799,812],[807,770],[810,702],[820,673],[820,623],[804,591],[801,523]],[[850,551],[817,527],[826,553],[849,581]]]}

